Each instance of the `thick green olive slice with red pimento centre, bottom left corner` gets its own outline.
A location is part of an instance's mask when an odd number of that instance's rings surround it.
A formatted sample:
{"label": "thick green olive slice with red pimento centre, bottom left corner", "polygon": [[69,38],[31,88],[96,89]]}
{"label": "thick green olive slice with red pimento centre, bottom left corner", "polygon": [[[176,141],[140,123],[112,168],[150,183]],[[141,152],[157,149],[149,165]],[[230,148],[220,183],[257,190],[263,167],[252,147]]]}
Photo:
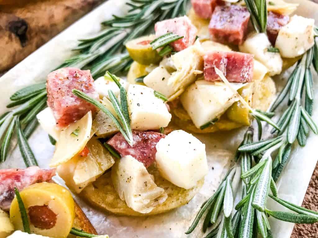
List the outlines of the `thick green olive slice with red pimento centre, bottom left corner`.
{"label": "thick green olive slice with red pimento centre, bottom left corner", "polygon": [[[65,238],[73,227],[75,208],[71,193],[55,183],[36,183],[20,192],[28,213],[31,233],[53,238]],[[45,219],[39,214],[45,214]],[[15,197],[10,207],[10,219],[17,230],[23,223]]]}

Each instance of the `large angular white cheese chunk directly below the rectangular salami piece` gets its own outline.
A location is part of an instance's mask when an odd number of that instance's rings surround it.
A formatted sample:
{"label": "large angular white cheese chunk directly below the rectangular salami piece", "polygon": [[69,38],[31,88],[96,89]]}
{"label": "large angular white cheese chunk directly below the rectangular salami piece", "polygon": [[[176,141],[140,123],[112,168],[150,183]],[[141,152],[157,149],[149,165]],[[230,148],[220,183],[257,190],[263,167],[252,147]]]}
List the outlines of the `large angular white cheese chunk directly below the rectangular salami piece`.
{"label": "large angular white cheese chunk directly below the rectangular salami piece", "polygon": [[[243,83],[231,84],[236,90],[244,86]],[[212,83],[205,80],[199,80],[190,85],[180,99],[183,108],[197,128],[218,118],[238,101],[238,97],[225,83]]]}

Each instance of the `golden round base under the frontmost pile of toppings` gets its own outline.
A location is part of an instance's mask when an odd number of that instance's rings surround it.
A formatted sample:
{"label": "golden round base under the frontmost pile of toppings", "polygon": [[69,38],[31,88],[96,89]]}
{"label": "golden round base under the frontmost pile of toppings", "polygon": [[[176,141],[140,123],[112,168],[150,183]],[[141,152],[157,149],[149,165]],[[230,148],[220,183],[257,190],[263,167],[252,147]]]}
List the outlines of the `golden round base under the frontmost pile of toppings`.
{"label": "golden round base under the frontmost pile of toppings", "polygon": [[119,198],[115,191],[110,174],[107,172],[100,176],[93,184],[90,184],[79,194],[92,206],[104,210],[106,212],[115,213],[118,215],[130,216],[148,216],[170,211],[188,203],[194,195],[202,187],[204,179],[197,182],[197,185],[188,190],[177,187],[171,182],[162,178],[159,171],[154,167],[149,168],[149,173],[154,175],[155,183],[158,187],[164,188],[168,198],[162,204],[156,206],[150,213],[142,214],[129,208],[125,201]]}

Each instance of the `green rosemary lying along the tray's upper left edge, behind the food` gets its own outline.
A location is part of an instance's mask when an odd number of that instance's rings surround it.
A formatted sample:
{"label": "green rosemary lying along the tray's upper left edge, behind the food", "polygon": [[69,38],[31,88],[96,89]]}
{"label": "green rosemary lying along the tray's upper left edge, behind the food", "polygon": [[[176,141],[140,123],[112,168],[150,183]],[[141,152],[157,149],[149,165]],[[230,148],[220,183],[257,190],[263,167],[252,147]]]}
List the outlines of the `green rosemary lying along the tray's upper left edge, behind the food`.
{"label": "green rosemary lying along the tray's upper left edge, behind the food", "polygon": [[[106,70],[114,74],[128,70],[133,61],[127,52],[122,52],[125,49],[124,43],[147,33],[158,20],[185,15],[188,2],[189,0],[129,1],[127,4],[131,10],[127,15],[123,17],[113,15],[112,19],[102,23],[104,29],[100,32],[85,39],[79,39],[78,46],[73,49],[75,55],[65,60],[56,69],[67,66],[86,68],[91,70],[94,78],[104,75]],[[118,52],[121,54],[117,54]],[[10,133],[6,132],[13,116],[21,118],[20,128],[24,127],[27,139],[38,125],[35,115],[45,107],[45,95],[45,83],[38,83],[18,90],[10,97],[12,102],[7,107],[15,108],[0,116],[0,140],[6,137],[6,144],[2,145],[4,151],[0,162],[4,161],[8,155],[7,149],[10,147],[11,137]],[[27,140],[24,140],[23,144],[30,148]],[[32,161],[36,162],[35,158]],[[29,165],[30,163],[27,164]]]}

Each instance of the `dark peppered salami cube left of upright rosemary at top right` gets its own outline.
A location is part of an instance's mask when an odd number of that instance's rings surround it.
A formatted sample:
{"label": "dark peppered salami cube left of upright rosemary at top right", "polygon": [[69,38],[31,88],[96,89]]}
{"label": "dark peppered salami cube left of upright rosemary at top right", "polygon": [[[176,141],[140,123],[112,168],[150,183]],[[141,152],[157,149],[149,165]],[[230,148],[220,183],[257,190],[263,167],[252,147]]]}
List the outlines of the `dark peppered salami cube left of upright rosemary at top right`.
{"label": "dark peppered salami cube left of upright rosemary at top right", "polygon": [[211,37],[221,43],[242,44],[249,19],[250,13],[245,7],[217,6],[209,24]]}

